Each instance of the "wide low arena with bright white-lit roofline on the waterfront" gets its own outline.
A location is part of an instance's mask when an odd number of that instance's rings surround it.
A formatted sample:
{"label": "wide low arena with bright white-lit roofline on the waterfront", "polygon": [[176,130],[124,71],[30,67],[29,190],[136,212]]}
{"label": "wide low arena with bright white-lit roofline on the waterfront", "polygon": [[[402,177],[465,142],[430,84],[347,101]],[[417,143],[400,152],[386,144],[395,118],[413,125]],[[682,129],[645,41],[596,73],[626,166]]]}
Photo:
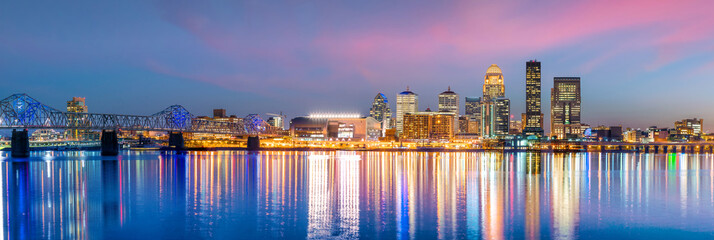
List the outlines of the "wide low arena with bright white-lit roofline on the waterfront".
{"label": "wide low arena with bright white-lit roofline on the waterfront", "polygon": [[290,135],[300,140],[377,140],[380,122],[372,117],[297,117],[290,121]]}

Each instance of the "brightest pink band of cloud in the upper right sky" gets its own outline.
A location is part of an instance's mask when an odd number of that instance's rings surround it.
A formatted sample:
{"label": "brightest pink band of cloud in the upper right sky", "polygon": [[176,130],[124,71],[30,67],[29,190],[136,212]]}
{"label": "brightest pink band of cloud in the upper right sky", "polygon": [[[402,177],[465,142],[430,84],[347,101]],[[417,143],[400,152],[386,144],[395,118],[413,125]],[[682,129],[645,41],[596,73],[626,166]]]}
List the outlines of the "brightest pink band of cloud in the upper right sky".
{"label": "brightest pink band of cloud in the upper right sky", "polygon": [[[325,33],[315,45],[331,58],[351,63],[430,61],[444,49],[462,55],[518,53],[527,56],[602,34],[627,37],[632,31],[651,34],[642,46],[667,48],[711,40],[714,18],[708,1],[577,1],[558,2],[518,14],[518,4],[463,6],[421,31],[372,26],[368,30],[335,35]],[[705,7],[710,6],[710,7]],[[477,10],[474,10],[477,9]],[[652,29],[650,31],[650,29]],[[624,31],[624,32],[623,32]],[[651,33],[650,33],[651,32]],[[617,36],[616,36],[617,37]],[[661,56],[664,64],[676,60]]]}

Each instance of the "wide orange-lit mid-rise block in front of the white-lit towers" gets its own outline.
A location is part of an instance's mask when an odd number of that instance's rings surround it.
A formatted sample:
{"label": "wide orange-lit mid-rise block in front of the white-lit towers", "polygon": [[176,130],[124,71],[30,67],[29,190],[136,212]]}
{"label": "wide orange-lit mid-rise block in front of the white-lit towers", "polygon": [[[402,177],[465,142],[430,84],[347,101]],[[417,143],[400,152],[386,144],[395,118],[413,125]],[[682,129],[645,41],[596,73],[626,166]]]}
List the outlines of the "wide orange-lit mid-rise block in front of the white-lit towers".
{"label": "wide orange-lit mid-rise block in front of the white-lit towers", "polygon": [[404,115],[402,139],[449,140],[454,136],[455,116],[449,112],[416,112]]}

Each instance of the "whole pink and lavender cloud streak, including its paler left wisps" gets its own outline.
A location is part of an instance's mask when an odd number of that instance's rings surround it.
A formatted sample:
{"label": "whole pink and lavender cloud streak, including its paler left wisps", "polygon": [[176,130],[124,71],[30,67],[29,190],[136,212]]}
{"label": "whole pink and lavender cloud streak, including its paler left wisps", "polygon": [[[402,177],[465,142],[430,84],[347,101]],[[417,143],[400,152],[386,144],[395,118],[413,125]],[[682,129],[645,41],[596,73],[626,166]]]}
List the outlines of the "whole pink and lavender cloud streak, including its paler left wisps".
{"label": "whole pink and lavender cloud streak, including its paler left wisps", "polygon": [[[234,73],[188,76],[192,79],[218,85],[242,81],[261,88],[265,84],[286,85],[282,76],[292,79],[288,87],[315,90],[339,86],[341,80],[356,76],[378,86],[385,79],[418,78],[438,62],[469,64],[473,59],[496,56],[527,58],[597,39],[614,39],[614,44],[611,50],[582,59],[580,70],[593,71],[608,59],[643,49],[653,51],[656,58],[639,67],[656,70],[690,56],[695,51],[693,44],[714,42],[710,27],[714,26],[714,15],[709,13],[713,5],[697,0],[465,1],[433,11],[360,13],[355,22],[364,23],[342,26],[333,20],[355,15],[325,4],[313,15],[317,19],[313,34],[306,34],[291,12],[246,11],[226,20],[207,8],[166,4],[164,17],[232,61],[236,72],[249,70],[245,69],[249,68],[244,64],[246,59],[270,63],[282,72],[250,75],[252,78],[244,74],[236,77]],[[261,24],[264,26],[256,27]],[[302,52],[310,56],[302,57]],[[308,69],[316,67],[330,72],[314,79]]]}

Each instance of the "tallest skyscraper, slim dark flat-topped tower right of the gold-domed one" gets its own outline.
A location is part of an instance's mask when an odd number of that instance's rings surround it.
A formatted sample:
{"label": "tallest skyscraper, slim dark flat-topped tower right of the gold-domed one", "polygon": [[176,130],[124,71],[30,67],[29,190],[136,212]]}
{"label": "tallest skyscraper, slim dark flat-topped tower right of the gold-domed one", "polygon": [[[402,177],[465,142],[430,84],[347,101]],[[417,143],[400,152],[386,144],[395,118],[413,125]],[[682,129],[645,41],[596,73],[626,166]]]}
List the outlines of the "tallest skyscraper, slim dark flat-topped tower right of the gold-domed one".
{"label": "tallest skyscraper, slim dark flat-topped tower right of the gold-domed one", "polygon": [[526,135],[543,136],[540,83],[540,62],[526,62],[526,113],[521,119]]}

